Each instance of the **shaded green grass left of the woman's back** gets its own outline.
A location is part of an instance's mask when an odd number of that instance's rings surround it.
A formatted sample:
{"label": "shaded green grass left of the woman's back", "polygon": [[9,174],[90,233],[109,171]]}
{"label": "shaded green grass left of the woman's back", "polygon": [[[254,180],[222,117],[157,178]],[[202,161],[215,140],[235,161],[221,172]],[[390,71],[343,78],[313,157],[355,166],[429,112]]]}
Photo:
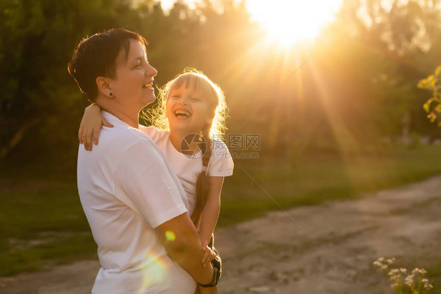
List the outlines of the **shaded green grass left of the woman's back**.
{"label": "shaded green grass left of the woman's back", "polygon": [[0,276],[96,258],[76,184],[23,182],[0,191]]}

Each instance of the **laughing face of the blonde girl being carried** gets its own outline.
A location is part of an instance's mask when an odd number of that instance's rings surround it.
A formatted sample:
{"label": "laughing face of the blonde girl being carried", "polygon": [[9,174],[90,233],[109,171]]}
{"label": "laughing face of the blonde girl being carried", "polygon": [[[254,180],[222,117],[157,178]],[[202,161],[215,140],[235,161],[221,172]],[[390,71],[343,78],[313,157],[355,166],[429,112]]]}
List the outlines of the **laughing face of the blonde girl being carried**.
{"label": "laughing face of the blonde girl being carried", "polygon": [[213,119],[212,102],[203,91],[195,91],[190,85],[186,87],[184,82],[180,87],[170,91],[166,116],[170,130],[199,134]]}

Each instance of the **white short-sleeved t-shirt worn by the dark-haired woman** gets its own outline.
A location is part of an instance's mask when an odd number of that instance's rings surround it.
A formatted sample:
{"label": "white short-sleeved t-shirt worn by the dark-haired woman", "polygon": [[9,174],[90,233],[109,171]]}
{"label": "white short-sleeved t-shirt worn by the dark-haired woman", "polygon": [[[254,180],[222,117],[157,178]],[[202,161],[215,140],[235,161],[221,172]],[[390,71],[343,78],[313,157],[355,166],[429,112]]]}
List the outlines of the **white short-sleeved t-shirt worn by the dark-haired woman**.
{"label": "white short-sleeved t-shirt worn by the dark-haired woman", "polygon": [[167,255],[155,228],[188,211],[187,195],[146,134],[102,112],[92,151],[78,150],[78,193],[101,264],[92,294],[193,294],[196,283]]}

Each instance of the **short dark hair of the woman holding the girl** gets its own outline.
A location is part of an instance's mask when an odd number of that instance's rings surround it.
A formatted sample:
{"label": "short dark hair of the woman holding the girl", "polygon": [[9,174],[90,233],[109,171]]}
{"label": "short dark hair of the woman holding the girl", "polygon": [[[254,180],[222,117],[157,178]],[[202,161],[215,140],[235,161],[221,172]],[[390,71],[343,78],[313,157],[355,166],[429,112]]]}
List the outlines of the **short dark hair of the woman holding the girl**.
{"label": "short dark hair of the woman holding the girl", "polygon": [[115,78],[116,59],[124,50],[125,61],[130,50],[130,39],[139,42],[146,50],[146,39],[126,29],[111,29],[84,38],[72,55],[69,62],[69,74],[75,79],[79,89],[93,101],[98,95],[96,78],[98,76]]}

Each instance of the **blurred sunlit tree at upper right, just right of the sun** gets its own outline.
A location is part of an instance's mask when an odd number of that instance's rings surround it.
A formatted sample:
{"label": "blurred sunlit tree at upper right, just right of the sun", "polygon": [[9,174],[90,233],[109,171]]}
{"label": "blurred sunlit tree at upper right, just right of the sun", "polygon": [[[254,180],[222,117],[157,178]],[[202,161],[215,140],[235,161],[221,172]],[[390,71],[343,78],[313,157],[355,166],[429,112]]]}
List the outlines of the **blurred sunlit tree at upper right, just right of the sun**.
{"label": "blurred sunlit tree at upper right, just right of the sun", "polygon": [[[372,100],[371,121],[380,126],[383,135],[398,135],[405,117],[410,117],[412,130],[432,132],[422,119],[423,93],[414,85],[430,68],[429,56],[439,50],[439,17],[437,0],[348,0],[329,29],[331,36],[340,32],[334,38],[346,48],[358,44],[355,54],[365,62],[349,61],[352,56],[345,60],[370,76],[366,76],[370,81],[360,87],[367,95],[357,94]],[[346,43],[348,37],[352,41]],[[347,51],[345,47],[342,51]]]}

